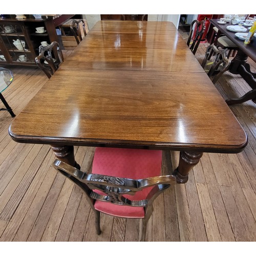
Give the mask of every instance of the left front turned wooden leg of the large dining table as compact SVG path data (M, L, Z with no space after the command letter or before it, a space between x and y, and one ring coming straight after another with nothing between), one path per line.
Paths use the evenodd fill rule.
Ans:
M57 159L80 169L80 165L75 161L74 146L51 145L51 148Z

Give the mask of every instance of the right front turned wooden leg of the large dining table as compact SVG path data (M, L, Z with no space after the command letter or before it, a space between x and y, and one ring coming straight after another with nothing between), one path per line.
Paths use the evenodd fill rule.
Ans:
M180 152L179 166L173 173L176 177L177 183L187 182L189 171L198 164L202 155L202 152Z

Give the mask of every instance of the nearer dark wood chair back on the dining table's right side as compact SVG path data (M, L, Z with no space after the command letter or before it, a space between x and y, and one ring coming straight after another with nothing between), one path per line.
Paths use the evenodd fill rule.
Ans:
M212 83L216 83L221 75L228 70L231 61L227 58L227 49L218 49L214 45L209 45L206 49L206 53L202 62L202 67L205 68L207 60L211 52L215 53L214 62L211 63L211 67L205 70L209 77L214 76Z

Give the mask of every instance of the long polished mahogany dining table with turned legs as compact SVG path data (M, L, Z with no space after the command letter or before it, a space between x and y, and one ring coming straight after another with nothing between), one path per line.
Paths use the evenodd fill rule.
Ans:
M49 144L76 167L75 145L179 151L178 183L188 180L203 152L239 153L247 144L170 22L97 22L9 134L16 142Z

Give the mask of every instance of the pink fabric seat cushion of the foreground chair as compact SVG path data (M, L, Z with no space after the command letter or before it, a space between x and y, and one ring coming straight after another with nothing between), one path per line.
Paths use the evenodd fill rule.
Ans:
M130 148L97 147L92 173L129 179L144 179L161 175L162 151L136 150ZM145 199L153 187L138 191L135 195L125 195L130 200ZM100 195L102 191L94 190ZM96 210L123 218L144 218L144 207L116 205L96 201Z

